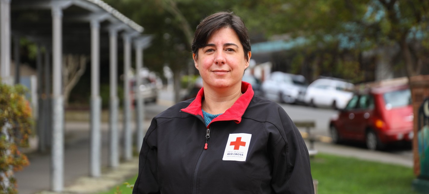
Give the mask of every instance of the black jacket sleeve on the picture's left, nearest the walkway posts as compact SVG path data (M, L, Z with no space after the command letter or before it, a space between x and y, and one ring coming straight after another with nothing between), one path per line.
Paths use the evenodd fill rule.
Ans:
M139 174L134 184L133 194L160 193L157 168L157 124L154 118L143 139L139 154Z

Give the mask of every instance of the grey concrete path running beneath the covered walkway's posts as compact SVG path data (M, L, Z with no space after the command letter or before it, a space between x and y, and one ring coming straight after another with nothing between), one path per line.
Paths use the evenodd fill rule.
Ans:
M145 123L148 125L150 122L146 121ZM108 124L103 123L101 126L103 139L101 154L103 176L100 178L90 179L88 177L89 128L89 123L86 122L66 122L65 124L64 184L66 188L64 191L69 191L70 193L91 193L92 191L108 190L109 188L117 185L118 183L120 184L125 179L132 177L137 173L137 158L134 158L132 161L128 162L121 161L121 166L115 170L107 167ZM34 194L49 190L49 168L51 160L50 154L30 152L27 153L27 156L30 161L30 165L24 167L22 171L15 173L15 177L18 181L19 193Z

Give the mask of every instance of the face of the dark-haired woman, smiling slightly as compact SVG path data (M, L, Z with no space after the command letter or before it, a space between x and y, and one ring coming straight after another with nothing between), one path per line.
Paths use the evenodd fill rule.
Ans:
M248 55L250 59L251 52ZM193 59L205 88L241 85L244 70L249 66L240 39L231 28L213 33L207 44L198 49L198 58L194 54Z

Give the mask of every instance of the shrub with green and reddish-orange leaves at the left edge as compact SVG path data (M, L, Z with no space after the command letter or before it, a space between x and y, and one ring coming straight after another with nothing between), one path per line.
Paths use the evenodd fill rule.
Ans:
M13 171L29 164L27 157L18 150L18 146L28 146L33 124L25 93L23 85L6 85L0 79L0 175L10 182L7 186L5 180L0 180L0 193L17 193Z

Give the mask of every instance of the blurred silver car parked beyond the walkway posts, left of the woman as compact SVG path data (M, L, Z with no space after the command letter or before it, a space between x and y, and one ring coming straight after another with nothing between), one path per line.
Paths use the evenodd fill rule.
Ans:
M139 85L138 90L142 94L143 101L145 103L155 103L158 98L158 88L155 81L151 81L148 78L141 78L142 82L141 85ZM133 99L133 104L136 104L135 100L135 91L136 91L136 80L131 80L131 99Z

